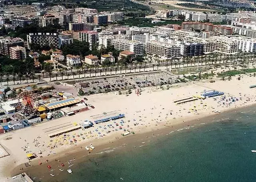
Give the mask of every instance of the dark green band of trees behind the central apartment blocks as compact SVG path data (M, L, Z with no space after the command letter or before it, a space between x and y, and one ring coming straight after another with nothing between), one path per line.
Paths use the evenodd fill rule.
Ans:
M181 25L182 21L175 20L163 20L164 22L151 23L152 18L129 18L124 19L122 22L118 22L120 25L138 26L138 27L153 27L167 24Z

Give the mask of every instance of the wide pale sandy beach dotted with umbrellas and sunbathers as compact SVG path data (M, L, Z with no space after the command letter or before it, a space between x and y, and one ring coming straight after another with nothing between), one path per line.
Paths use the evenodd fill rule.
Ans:
M0 180L5 181L8 177L27 171L32 166L36 166L38 170L47 170L45 165L48 164L51 164L53 168L57 167L59 165L57 163L60 162L55 162L55 160L67 155L70 160L74 157L77 159L79 156L83 156L82 154L90 157L94 153L104 151L104 149L108 150L124 141L129 143L138 140L140 136L148 135L148 133L156 133L166 128L175 130L194 123L202 123L200 118L216 115L213 112L216 110L225 112L254 104L256 101L255 89L251 89L249 86L255 84L255 78L247 75L244 75L241 80L237 78L238 76L234 76L232 80L216 80L214 83L203 80L173 84L169 89L164 86L163 89L159 86L158 88L143 88L138 96L135 90L129 96L117 95L115 92L88 96L88 102L93 104L95 109L0 135L0 144L10 154L0 158L2 164ZM179 105L173 102L179 98L200 95L200 92L205 90L218 90L224 92L224 96L199 99ZM232 99L236 101L232 102ZM48 133L45 132L48 128L65 123L73 125L80 121L91 120L93 115L104 112L119 112L125 114L125 118L94 124L94 127L88 129L72 131L67 133L66 137L61 135L49 138ZM121 133L124 132L124 129L134 131L135 134L123 137ZM76 142L70 142L74 138ZM96 147L91 154L84 149L90 144ZM26 157L28 153L36 153L38 157L28 161ZM31 166L25 167L24 163L26 162L30 162ZM42 162L42 165L39 165L39 162ZM23 168L23 170L19 170L19 168Z

